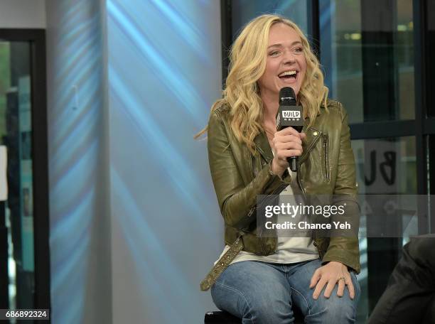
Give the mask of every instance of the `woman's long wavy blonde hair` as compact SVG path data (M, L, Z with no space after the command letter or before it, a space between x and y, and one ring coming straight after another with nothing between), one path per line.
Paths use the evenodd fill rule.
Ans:
M326 106L328 87L323 84L323 73L316 55L311 51L301 29L282 16L266 14L254 18L241 31L230 50L230 72L222 98L212 106L210 114L225 104L230 111L230 125L237 140L245 143L254 152L254 138L263 131L263 102L257 81L266 70L267 45L270 28L276 23L285 23L301 37L306 58L306 75L299 90L297 101L304 107L304 117L313 124L321 105ZM195 135L204 134L207 127Z

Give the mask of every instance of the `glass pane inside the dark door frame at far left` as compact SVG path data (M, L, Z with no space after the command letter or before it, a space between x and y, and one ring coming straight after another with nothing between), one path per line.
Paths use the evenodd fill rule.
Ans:
M0 41L0 144L7 148L9 308L33 308L31 44ZM1 279L0 279L1 280Z

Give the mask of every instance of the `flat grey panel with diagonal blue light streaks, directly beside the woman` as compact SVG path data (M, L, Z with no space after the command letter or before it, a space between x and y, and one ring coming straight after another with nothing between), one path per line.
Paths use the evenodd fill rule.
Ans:
M200 323L222 249L205 126L219 1L107 1L114 323Z

